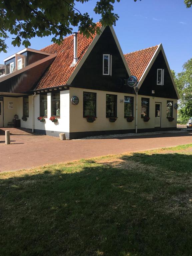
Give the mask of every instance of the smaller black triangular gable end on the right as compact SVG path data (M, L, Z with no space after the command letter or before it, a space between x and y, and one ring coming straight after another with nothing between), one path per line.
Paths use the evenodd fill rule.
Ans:
M157 85L157 69L164 69L164 85ZM152 94L152 90L155 94ZM161 98L178 99L162 51L159 52L150 71L143 81L138 94Z

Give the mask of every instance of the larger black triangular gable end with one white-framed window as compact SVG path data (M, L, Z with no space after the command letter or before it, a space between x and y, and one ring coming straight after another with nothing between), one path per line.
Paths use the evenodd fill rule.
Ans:
M103 54L112 55L112 76L103 75ZM135 94L133 88L124 85L124 80L128 77L112 32L109 27L106 27L73 79L71 86Z

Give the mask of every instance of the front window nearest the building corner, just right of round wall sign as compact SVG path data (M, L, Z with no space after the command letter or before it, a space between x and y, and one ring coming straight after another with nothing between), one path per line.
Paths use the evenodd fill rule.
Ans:
M96 117L96 93L83 92L83 117Z

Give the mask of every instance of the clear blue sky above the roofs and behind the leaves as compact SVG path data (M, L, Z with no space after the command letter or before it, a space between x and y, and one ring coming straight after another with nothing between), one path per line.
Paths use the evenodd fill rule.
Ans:
M97 22L101 17L93 11L96 2L77 3L75 7ZM192 7L186 8L184 0L120 0L114 4L114 13L120 17L114 30L124 54L162 43L169 66L176 73L192 58ZM8 53L0 53L1 64L24 48L11 45L11 37L7 40ZM35 37L29 48L39 50L51 44L51 38Z

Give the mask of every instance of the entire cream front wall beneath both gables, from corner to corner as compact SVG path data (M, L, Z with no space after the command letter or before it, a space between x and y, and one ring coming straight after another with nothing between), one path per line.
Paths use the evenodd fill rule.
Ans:
M83 118L83 92L95 92L97 93L97 118L93 123L88 123L86 118ZM106 94L117 95L117 121L114 123L109 122L109 118L106 118ZM120 103L120 99L124 100L124 96L134 97L134 117L135 117L135 104L136 95L126 93L116 93L98 90L89 90L81 88L70 88L70 99L73 96L79 98L79 104L73 105L70 102L70 132L83 132L83 131L105 131L105 130L125 130L135 129L135 120L128 123L124 118L124 103ZM150 98L149 103L149 122L144 122L141 118L141 98ZM150 129L155 125L155 102L161 102L161 128L176 127L177 123L177 110L173 108L173 117L175 120L169 122L167 119L167 100L172 100L173 105L177 103L175 99L147 97L138 95L138 129Z

